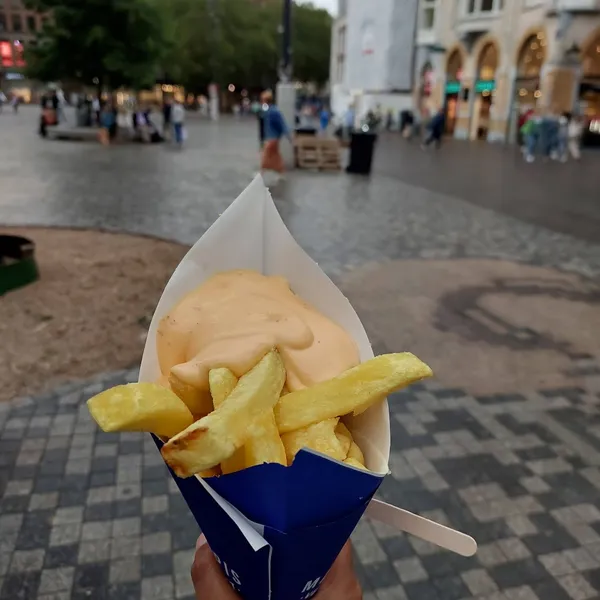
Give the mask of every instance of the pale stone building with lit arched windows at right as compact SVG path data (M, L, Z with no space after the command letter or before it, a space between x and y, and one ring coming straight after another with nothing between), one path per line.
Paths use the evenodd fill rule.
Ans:
M414 90L460 139L515 141L532 109L600 119L600 0L420 0Z

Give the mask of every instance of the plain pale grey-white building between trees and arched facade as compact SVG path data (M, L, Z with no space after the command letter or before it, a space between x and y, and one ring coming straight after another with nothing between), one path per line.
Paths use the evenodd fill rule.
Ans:
M361 113L412 106L418 0L340 0L333 24L332 110L350 104Z

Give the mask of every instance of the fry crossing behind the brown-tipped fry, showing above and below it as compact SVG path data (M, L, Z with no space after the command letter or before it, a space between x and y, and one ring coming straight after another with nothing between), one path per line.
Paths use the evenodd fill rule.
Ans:
M217 408L235 388L237 377L229 369L212 369L208 374L208 381ZM224 475L263 463L287 464L272 410L268 411L257 427L260 432L249 438L243 448L236 450L230 458L221 463Z

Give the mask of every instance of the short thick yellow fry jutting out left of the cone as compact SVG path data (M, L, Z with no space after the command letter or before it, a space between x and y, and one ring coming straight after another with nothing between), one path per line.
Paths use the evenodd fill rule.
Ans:
M118 385L90 398L87 406L103 431L147 431L169 438L194 422L187 406L157 383Z

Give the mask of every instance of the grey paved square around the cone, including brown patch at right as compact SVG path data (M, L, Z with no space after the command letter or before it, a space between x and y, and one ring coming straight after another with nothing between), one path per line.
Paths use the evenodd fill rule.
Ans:
M191 244L257 167L252 121L195 119L178 152L40 141L36 114L0 115L0 225ZM363 519L365 599L599 598L600 154L524 165L500 146L422 153L395 135L377 152L371 178L294 172L272 192L375 351L412 350L436 373L390 398L380 497L480 550ZM83 404L135 377L0 405L0 600L193 598L198 530L151 440L97 431Z

